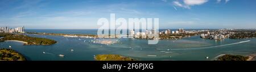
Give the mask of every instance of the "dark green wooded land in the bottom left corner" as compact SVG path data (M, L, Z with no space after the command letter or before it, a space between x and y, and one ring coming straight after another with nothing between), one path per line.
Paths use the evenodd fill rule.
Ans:
M0 61L26 61L26 58L13 49L0 49Z

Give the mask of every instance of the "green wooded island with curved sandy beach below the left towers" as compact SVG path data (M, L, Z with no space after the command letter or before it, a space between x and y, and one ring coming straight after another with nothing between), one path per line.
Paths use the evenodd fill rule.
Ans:
M39 37L30 37L26 35L20 34L12 34L12 33L0 33L0 42L3 41L19 41L24 43L24 45L52 45L57 43L55 40L44 39Z

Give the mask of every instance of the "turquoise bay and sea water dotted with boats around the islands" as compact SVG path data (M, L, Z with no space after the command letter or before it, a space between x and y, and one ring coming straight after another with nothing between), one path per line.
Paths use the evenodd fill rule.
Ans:
M96 34L97 29L29 29L27 32L47 33L86 33ZM121 54L137 60L214 60L220 54L247 54L256 53L256 39L225 39L222 41L205 40L199 36L192 36L180 40L160 40L158 44L148 45L147 40L137 39L111 39L118 43L111 45L93 43L95 40L109 39L86 39L63 36L42 36L56 40L54 45L23 45L18 42L2 42L0 48L9 48L22 53L28 60L32 61L91 61L96 54ZM240 43L241 41L247 41ZM73 49L73 51L71 51ZM46 52L46 53L43 53ZM64 54L64 57L59 57ZM150 57L154 55L156 57ZM206 59L205 57L209 57Z

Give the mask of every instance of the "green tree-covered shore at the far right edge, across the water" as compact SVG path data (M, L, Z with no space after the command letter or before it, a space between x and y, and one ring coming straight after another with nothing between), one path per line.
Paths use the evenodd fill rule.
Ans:
M256 37L255 32L237 32L230 36L230 39L248 39L251 37Z

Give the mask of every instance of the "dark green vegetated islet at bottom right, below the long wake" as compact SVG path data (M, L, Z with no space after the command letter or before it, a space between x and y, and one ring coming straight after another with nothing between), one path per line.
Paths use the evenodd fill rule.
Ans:
M217 61L247 61L248 59L249 57L226 54L224 56L218 57Z

